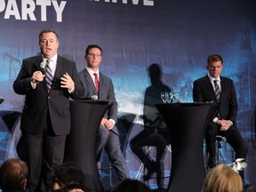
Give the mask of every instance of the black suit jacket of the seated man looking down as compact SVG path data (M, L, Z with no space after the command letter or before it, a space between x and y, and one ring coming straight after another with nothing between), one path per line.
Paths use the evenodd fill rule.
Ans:
M220 86L220 107L219 111L216 111L212 116L212 119L217 116L217 113L220 113L222 119L230 120L233 124L236 124L238 106L233 81L227 77L220 76ZM208 76L201 77L194 82L193 100L195 102L218 102Z

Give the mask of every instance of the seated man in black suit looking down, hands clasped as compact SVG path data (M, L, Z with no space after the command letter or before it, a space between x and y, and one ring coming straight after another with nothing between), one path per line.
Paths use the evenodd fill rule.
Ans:
M194 82L193 99L195 102L213 101L219 108L212 116L205 134L206 148L209 155L208 167L216 166L216 135L227 138L234 148L237 158L246 158L247 146L236 126L238 105L233 81L220 76L223 60L220 55L212 54L207 59L208 75ZM216 90L217 88L217 90ZM216 91L215 91L216 90Z

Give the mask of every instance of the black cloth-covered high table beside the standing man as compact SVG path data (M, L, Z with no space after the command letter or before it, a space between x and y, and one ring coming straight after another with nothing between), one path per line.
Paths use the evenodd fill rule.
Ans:
M84 172L87 188L104 191L96 162L96 137L110 100L71 100L71 130L67 137L64 162L76 163Z

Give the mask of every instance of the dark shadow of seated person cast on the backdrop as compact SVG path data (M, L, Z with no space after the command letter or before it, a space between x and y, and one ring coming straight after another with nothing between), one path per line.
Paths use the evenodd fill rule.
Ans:
M163 103L161 92L172 92L171 88L162 82L162 68L154 63L148 68L148 76L151 85L146 89L144 98L143 116L144 130L135 136L130 143L132 152L140 158L140 161L147 168L144 180L149 180L156 172L156 182L161 188L161 167L160 161L164 155L164 149L170 140L169 132L164 124L163 117L159 114L155 105ZM147 155L145 146L156 146L156 161Z

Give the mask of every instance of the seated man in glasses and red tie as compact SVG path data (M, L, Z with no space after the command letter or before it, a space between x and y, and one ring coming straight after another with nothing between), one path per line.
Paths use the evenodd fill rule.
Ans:
M87 62L87 67L79 73L84 86L84 97L87 98L97 95L100 100L113 101L101 120L97 135L96 159L100 161L103 149L105 148L118 179L124 180L129 175L123 153L120 149L119 132L116 127L117 102L112 80L99 71L102 60L101 47L97 44L90 44L86 48L84 58ZM97 78L95 79L96 76ZM98 87L98 91L96 87Z

